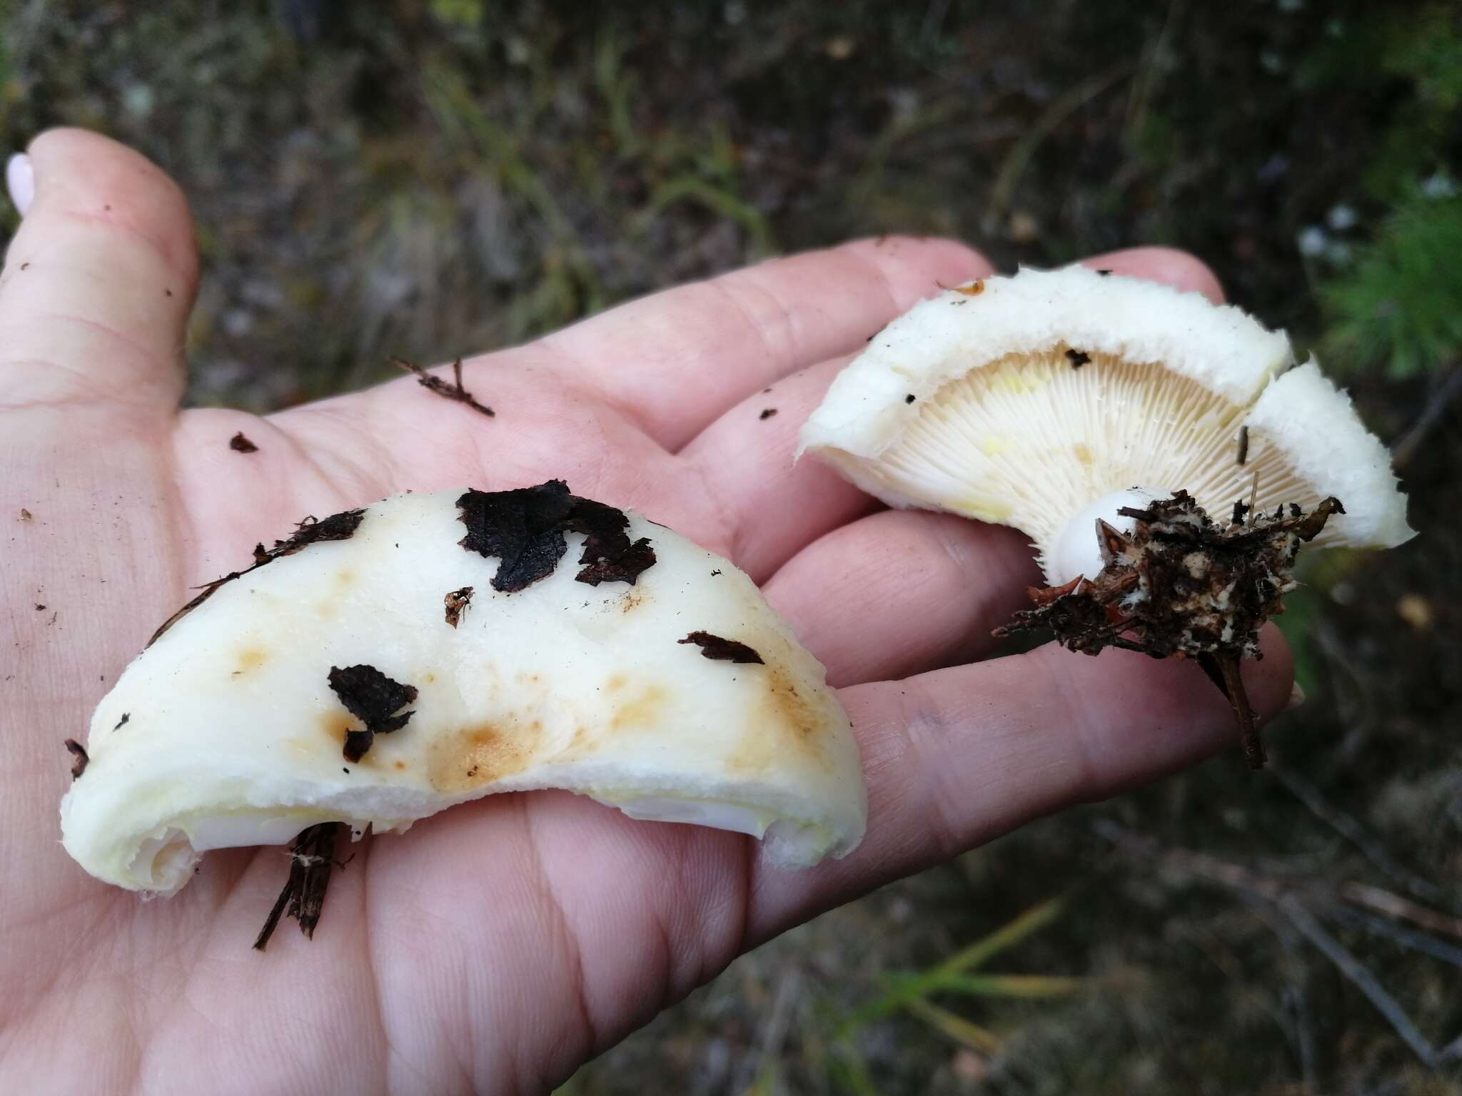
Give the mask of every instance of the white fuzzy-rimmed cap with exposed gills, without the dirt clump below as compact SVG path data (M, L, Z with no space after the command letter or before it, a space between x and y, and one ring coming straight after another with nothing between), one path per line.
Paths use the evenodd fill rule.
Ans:
M801 450L890 506L1025 530L1053 583L1082 573L1057 544L1095 545L1094 519L1114 520L1121 492L1187 490L1225 519L1256 473L1262 510L1341 498L1319 544L1401 544L1412 530L1386 449L1314 365L1281 376L1292 364L1282 332L1200 294L1025 269L885 327L833 380Z

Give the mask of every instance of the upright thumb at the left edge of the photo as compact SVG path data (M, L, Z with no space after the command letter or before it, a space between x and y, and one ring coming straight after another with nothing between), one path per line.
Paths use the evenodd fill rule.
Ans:
M42 133L13 161L12 183L25 164L34 197L0 276L0 408L171 409L197 279L183 193L140 153L85 130Z

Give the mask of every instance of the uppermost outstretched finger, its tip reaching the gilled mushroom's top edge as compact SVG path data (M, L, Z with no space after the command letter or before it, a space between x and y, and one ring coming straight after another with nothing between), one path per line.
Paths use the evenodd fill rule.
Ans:
M857 349L937 282L988 270L949 240L860 240L633 301L541 348L675 450L778 377Z

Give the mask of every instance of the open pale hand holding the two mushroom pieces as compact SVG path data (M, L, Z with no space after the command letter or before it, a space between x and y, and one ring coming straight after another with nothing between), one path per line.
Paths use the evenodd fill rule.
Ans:
M29 155L35 197L0 279L0 1090L542 1092L788 926L1234 744L1192 665L977 661L1038 577L1023 538L879 511L792 466L797 427L868 335L990 272L961 244L779 259L469 358L496 419L409 377L265 418L180 412L197 281L181 193L91 133ZM1091 262L1219 294L1174 251ZM240 430L257 453L230 449ZM354 846L314 940L285 922L263 954L278 849L209 853L146 903L66 856L61 741L189 586L304 514L553 476L763 585L857 729L857 852L784 872L740 834L491 796ZM1269 716L1291 663L1272 631L1265 650L1244 677Z

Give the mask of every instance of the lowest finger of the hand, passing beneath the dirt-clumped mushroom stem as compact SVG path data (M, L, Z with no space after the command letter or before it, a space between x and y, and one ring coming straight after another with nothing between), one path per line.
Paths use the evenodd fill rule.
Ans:
M1289 650L1273 625L1246 661L1260 719L1284 710ZM756 862L747 945L1031 818L1102 799L1219 750L1228 701L1192 662L1047 644L841 694L868 779L868 833L842 861L788 874Z

